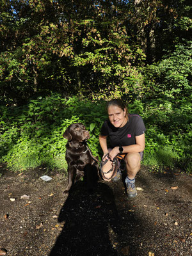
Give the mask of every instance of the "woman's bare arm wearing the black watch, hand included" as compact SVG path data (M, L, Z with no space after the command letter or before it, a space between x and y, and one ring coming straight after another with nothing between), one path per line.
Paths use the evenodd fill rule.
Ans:
M142 152L145 148L145 133L141 134L140 136L136 136L136 144L130 145L130 146L124 146L124 151L123 153L131 153L131 152ZM111 150L109 156L111 160L119 154L119 147L113 148Z

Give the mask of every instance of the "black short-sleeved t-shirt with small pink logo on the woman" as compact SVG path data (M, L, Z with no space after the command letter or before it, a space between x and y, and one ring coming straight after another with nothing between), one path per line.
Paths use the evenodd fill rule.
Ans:
M136 144L135 137L145 133L145 125L140 115L129 114L129 120L123 127L116 128L106 120L100 135L108 136L111 148Z

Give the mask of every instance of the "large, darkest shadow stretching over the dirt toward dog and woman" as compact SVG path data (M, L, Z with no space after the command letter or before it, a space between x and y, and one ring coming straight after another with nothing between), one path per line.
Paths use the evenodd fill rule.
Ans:
M61 208L58 222L63 230L57 237L49 256L115 256L112 240L118 242L120 223L113 191L99 182L93 193L88 193L84 182L77 182Z

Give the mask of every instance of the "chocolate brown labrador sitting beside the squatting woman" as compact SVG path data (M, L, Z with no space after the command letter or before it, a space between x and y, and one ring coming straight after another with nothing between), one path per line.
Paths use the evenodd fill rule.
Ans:
M90 138L89 132L83 124L77 123L68 126L63 137L68 140L65 156L68 164L68 185L63 193L68 193L72 184L83 176L88 190L92 191L93 184L98 179L99 164L86 143Z

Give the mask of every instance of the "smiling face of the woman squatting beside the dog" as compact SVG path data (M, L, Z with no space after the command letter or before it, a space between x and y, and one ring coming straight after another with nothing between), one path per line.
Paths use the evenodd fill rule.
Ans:
M121 109L116 105L111 105L108 108L109 121L116 128L123 127L127 123L126 109Z

